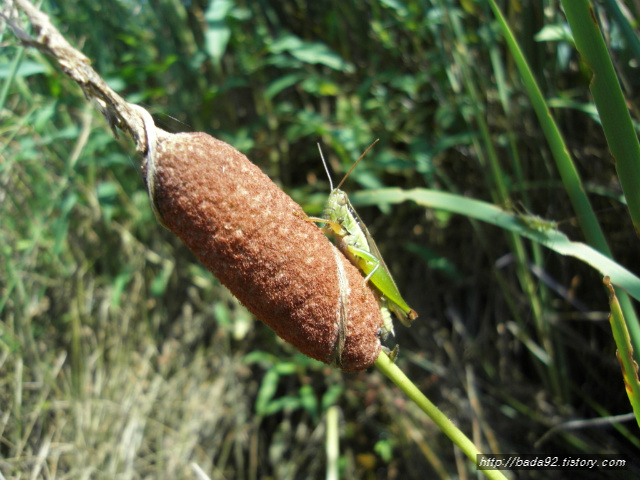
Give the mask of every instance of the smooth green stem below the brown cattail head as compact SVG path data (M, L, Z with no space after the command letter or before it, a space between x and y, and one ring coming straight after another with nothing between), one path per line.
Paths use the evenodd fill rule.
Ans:
M404 374L398 366L393 363L389 357L381 352L376 360L376 367L384 373L407 397L409 397L431 420L440 428L440 430L455 443L464 454L469 457L477 465L478 455L482 452L474 445L474 443L456 427L447 416L442 413L424 394L418 390L414 383ZM490 479L506 480L506 477L499 470L484 470L483 473Z

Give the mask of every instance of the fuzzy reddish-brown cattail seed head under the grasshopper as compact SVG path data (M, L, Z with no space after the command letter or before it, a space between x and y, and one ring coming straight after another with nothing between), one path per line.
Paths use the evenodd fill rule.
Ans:
M204 133L163 133L150 161L149 191L162 222L251 313L305 355L345 372L375 362L382 317L361 273L246 156ZM348 322L339 355L341 309Z

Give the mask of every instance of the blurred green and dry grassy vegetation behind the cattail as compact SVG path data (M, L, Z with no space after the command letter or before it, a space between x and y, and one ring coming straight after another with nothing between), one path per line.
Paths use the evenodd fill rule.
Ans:
M627 3L627 18L637 18ZM616 259L637 271L638 239L559 5L501 7ZM460 193L557 220L583 240L482 1L61 0L42 8L160 128L231 143L309 214L321 212L329 191L316 143L335 181L379 138L347 192ZM598 14L637 119L640 59L609 10ZM114 140L49 59L23 51L8 30L0 35L5 477L195 478L195 462L211 478L323 478L330 405L342 412L343 478L473 472L378 372L345 375L308 360L251 318L155 221L131 141ZM507 201L498 201L490 173L494 153ZM565 421L631 411L597 272L526 244L532 296L495 227L409 203L359 211L420 314L410 330L396 326L398 364L481 450L637 457L634 422L583 425L540 442Z

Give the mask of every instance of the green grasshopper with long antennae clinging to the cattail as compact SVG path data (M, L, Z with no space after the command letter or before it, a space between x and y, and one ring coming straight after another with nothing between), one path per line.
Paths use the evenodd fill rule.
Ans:
M394 334L389 310L406 326L411 326L411 322L418 318L418 314L407 305L407 302L400 295L391 272L389 272L389 268L384 263L382 255L380 255L376 242L353 208L353 205L351 205L347 194L340 190L349 174L377 142L378 140L373 142L356 160L336 188L333 188L327 162L324 159L324 155L322 155L320 145L318 145L322 163L329 177L331 193L325 204L322 218L309 217L309 220L324 224L322 227L323 232L336 237L338 248L365 275L364 285L366 286L367 282L371 282L375 287L374 291L377 294L384 320L382 337L385 339L389 333Z

